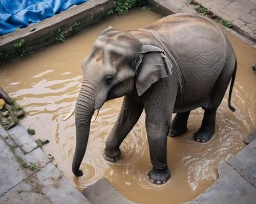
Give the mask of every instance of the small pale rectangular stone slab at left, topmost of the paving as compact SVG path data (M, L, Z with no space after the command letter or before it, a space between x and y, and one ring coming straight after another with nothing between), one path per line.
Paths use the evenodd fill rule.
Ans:
M8 130L7 133L24 152L28 153L37 148L37 144L35 143L33 137L23 126L16 125Z

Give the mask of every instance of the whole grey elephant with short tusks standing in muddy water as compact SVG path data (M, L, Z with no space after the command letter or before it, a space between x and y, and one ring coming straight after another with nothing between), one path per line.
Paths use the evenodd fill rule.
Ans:
M204 109L197 142L215 133L216 110L229 88L228 106L236 78L237 57L229 38L213 20L189 13L168 15L137 30L106 28L82 62L82 83L75 107L76 146L72 171L79 169L86 152L92 116L109 100L123 97L118 118L105 142L103 156L118 160L120 144L145 110L145 127L152 170L147 179L166 183L167 137L187 131L191 110ZM172 114L176 113L172 121Z

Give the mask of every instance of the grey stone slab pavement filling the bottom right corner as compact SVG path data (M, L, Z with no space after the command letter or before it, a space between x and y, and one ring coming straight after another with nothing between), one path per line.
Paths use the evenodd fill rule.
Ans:
M254 204L256 201L256 139L230 160L224 162L218 168L218 172L218 180L196 199L186 204Z

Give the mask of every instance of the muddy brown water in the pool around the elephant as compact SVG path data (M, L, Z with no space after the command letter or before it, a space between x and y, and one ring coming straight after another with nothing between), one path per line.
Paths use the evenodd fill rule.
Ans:
M0 86L26 110L21 121L36 130L37 139L48 139L43 146L52 154L58 168L81 190L106 177L127 198L139 203L182 203L206 190L218 178L217 167L241 150L242 140L256 126L256 76L251 66L256 63L256 50L238 37L228 33L238 58L238 72L232 104L228 109L227 93L217 114L217 130L210 142L195 142L193 133L200 127L203 111L193 110L188 120L188 132L179 138L168 138L167 158L172 173L162 186L149 183L150 155L145 131L145 114L121 145L121 158L116 164L104 160L105 140L118 116L122 98L105 103L97 120L92 123L86 155L77 179L71 164L75 148L75 119L61 118L73 107L78 96L82 70L81 62L103 29L113 26L119 31L137 29L158 20L151 11L133 10L113 17L88 31L77 34L65 43L55 44L32 56L12 62L0 69ZM174 117L174 116L173 116Z

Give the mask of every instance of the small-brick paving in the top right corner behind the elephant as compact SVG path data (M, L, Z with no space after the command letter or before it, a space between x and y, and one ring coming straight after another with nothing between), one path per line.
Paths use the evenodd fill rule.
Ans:
M256 42L256 0L195 0L195 2L222 19L230 21L235 27L234 30Z

